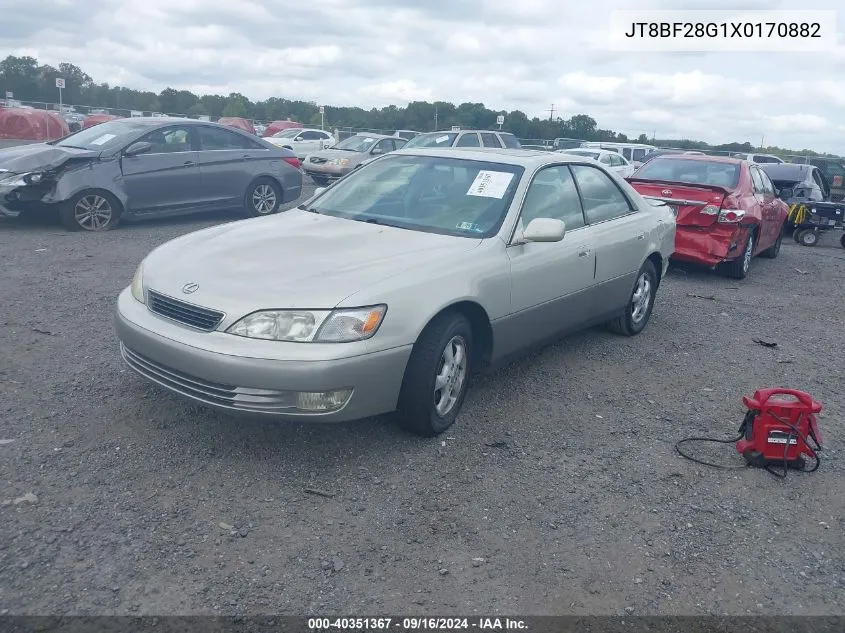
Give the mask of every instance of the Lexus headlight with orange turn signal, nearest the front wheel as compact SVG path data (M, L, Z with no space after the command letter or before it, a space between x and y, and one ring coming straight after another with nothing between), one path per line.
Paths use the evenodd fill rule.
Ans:
M376 333L386 305L340 310L262 310L232 325L229 334L294 343L351 343Z

